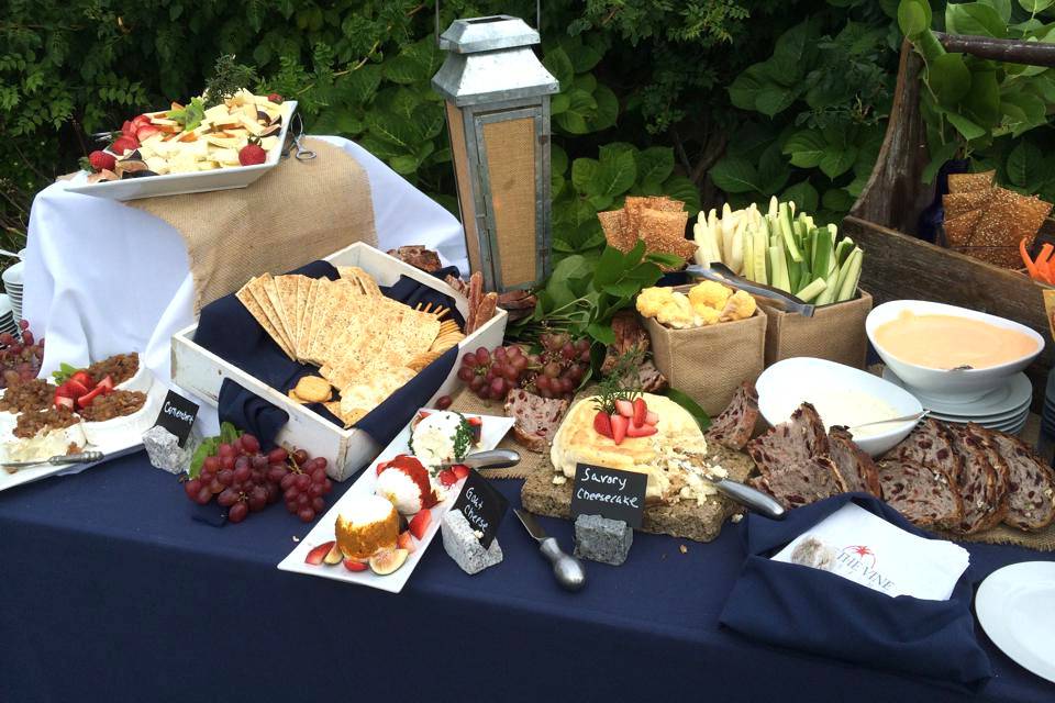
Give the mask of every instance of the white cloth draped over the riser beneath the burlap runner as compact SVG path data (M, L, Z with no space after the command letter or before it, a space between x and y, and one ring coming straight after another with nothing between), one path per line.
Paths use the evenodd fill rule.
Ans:
M456 217L358 145L322 138L366 170L382 250L423 244L445 264L468 271ZM46 338L42 371L135 350L168 382L171 336L193 322L193 280L182 238L136 208L70 193L66 186L53 183L37 193L30 213L23 316Z

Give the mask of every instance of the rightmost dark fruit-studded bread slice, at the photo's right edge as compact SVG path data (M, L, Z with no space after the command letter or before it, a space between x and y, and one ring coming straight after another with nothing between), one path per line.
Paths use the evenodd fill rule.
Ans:
M1003 523L1019 529L1043 529L1055 521L1055 472L1018 437L991 432L1008 465Z

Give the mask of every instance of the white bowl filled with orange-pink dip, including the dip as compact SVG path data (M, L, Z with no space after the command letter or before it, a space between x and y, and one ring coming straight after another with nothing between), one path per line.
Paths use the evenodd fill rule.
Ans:
M955 403L996 390L1044 350L1044 337L1025 325L924 300L873 309L865 332L912 393ZM952 370L962 365L971 368Z

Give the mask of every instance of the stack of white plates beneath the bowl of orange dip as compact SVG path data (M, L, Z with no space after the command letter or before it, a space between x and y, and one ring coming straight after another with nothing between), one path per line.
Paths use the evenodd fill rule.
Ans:
M1017 435L1025 427L1025 421L1030 416L1033 384L1022 372L1009 377L1006 383L981 398L967 402L957 402L955 398L937 398L923 394L906 384L889 368L884 369L882 378L897 383L915 395L923 408L931 411L930 416L942 422L959 424L973 422L989 429L999 429Z

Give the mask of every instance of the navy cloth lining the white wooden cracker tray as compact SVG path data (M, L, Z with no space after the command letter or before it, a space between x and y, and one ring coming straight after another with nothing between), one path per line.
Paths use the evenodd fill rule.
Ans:
M290 274L331 280L340 278L337 269L326 261L312 261ZM433 276L442 280L448 274L457 276L457 268L447 267L435 271ZM410 306L418 303L432 303L433 306L449 308L451 316L460 326L465 326L465 321L449 295L410 277L401 276L391 287L381 287L381 292ZM290 360L233 293L202 308L195 342L284 394L296 386L302 376L319 372L313 366ZM359 420L355 427L365 431L378 444L387 445L407 426L414 411L424 405L436 392L454 368L457 358L458 348L455 346ZM285 415L277 427L274 426L277 422L276 416L262 404ZM333 424L343 426L342 422L321 403L313 403L308 408ZM220 391L220 419L227 420L240 429L257 435L262 445L269 446L265 444L267 435L262 433L270 433L267 439L274 440L278 429L288 420L288 415L255 393L225 379Z

